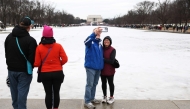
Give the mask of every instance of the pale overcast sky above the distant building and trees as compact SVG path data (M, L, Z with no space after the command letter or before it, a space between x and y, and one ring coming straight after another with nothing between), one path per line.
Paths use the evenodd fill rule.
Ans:
M88 15L101 15L105 19L122 16L142 1L145 0L51 0L50 3L57 10L64 10L81 19L87 19ZM158 3L158 0L149 1Z

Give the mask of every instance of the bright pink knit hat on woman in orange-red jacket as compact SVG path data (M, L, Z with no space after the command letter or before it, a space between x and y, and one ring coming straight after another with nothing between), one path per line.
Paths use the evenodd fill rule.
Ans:
M44 25L44 30L42 33L43 37L53 37L53 29L47 25Z

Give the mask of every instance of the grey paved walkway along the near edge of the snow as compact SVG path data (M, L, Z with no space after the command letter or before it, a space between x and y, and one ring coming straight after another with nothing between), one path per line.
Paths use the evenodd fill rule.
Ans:
M46 109L44 99L28 99L27 109ZM13 109L10 99L0 99L0 109ZM59 109L86 109L82 99L61 99ZM190 100L116 100L96 109L190 109Z

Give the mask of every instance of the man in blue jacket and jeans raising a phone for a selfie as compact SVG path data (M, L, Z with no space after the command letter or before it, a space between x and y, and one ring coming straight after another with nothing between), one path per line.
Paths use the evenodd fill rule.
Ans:
M101 45L102 31L100 28L95 28L93 33L84 41L85 44L85 69L87 75L87 83L84 96L84 106L88 109L95 108L92 103L100 103L95 99L96 86L100 77L101 70L104 66L103 48Z

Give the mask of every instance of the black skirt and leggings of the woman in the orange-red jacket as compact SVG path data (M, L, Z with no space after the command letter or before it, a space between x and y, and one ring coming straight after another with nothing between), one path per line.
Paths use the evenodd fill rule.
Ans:
M41 73L41 77L42 77L42 84L44 86L44 90L46 93L45 96L46 108L51 109L52 102L54 108L58 108L60 102L59 91L64 79L63 71ZM52 88L53 88L53 93L52 93ZM54 98L52 98L52 96Z

